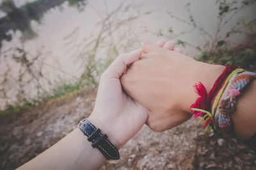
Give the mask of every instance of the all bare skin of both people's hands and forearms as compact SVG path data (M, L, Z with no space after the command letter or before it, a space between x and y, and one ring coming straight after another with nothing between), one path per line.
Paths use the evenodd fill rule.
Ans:
M172 41L143 43L142 48L143 54L136 50L118 56L102 74L95 108L88 118L117 148L124 146L146 121L152 129L163 131L188 120L189 107L197 97L190 85L201 81L209 90L224 69L182 55ZM121 76L123 88L134 99L123 91ZM237 100L232 116L234 130L243 139L256 132L255 96L253 81ZM19 169L99 169L105 162L102 153L75 129Z

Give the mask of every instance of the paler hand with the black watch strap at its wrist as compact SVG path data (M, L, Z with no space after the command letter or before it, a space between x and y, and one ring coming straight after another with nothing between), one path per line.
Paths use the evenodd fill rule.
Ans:
M119 55L112 62L100 78L95 108L89 117L117 148L140 131L148 118L147 110L125 94L120 83L127 66L140 57L141 50L136 50Z

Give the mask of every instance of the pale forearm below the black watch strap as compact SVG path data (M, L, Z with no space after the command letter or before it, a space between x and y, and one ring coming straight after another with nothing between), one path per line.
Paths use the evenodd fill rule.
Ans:
M75 129L19 169L99 169L105 162L102 153Z

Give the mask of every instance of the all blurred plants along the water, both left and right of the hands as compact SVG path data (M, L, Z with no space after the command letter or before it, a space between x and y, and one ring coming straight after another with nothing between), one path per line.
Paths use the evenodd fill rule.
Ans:
M12 9L16 9L15 4L12 3L12 1L8 0L3 2L4 3L1 5L2 7L10 7L0 7L0 9L7 9L6 13L11 13L10 11L12 11ZM53 1L51 2L53 3ZM57 6L56 3L61 2L63 2L63 0L55 1L51 5ZM214 35L209 34L204 27L201 27L200 24L196 22L196 18L190 9L191 4L188 3L186 5L186 9L189 13L188 20L179 18L170 12L168 12L168 14L172 18L188 24L192 29L189 31L175 33L175 30L173 30L172 27L169 27L169 29L167 29L168 35L164 34L163 31L156 32L156 35L177 39L182 34L188 34L191 30L197 30L204 39L202 46L194 46L193 43L182 41L182 39L178 39L177 44L184 47L191 46L198 50L198 60L212 64L239 65L245 69L256 71L256 18L239 21L232 29L225 32L225 27L229 24L230 20L232 20L237 13L248 8L248 6L255 2L256 1L252 0L243 0L241 2L226 0L216 1L219 15L218 22L216 24L216 33ZM17 8L16 11L25 10L29 16L33 16L33 19L40 22L44 12L39 10L40 12L38 13L38 10L35 10L35 7L41 6L42 3L45 2L38 0L32 3L27 3L20 9ZM68 4L70 6L76 6L79 11L82 11L83 6L86 5L86 1L68 0ZM44 53L43 50L38 52L38 55L31 55L31 53L27 52L22 48L22 46L20 46L13 47L2 52L0 62L5 62L6 70L0 74L0 99L8 98L8 92L13 89L17 89L17 101L11 104L6 103L6 109L0 111L0 118L8 115L8 117L10 116L10 120L12 120L15 116L18 116L22 112L29 110L35 105L44 103L45 101L66 96L67 94L77 92L84 87L97 87L99 76L102 71L109 66L120 51L125 51L128 48L127 46L131 46L131 43L129 43L130 41L132 43L136 43L136 41L138 41L138 39L131 39L131 34L133 32L130 27L127 27L127 25L129 25L131 21L139 18L141 15L148 15L150 12L141 14L138 12L137 8L138 6L134 6L132 4L120 4L120 6L113 11L107 10L104 15L100 15L99 11L96 11L99 14L99 17L102 18L99 22L100 30L97 31L96 34L92 34L90 38L83 38L83 40L81 40L79 38L79 29L74 29L74 31L65 37L64 41L66 42L66 47L68 49L72 49L70 50L72 51L72 56L76 57L76 62L81 63L81 75L79 77L66 73L60 67L54 67L45 63L45 56L47 53ZM44 10L45 9L46 8L44 8ZM134 10L134 14L127 16L122 20L116 20L116 18L123 15L127 10ZM0 18L0 24L1 21L3 21L1 19L3 18ZM27 25L29 24L30 19L28 20ZM115 41L113 41L113 33L119 30L122 30L124 34L121 34L120 39L118 39L118 43L115 43ZM236 34L243 34L243 36L246 37L246 40L239 43L237 46L230 46L230 39ZM170 37L170 35L172 36ZM136 36L137 35L134 37ZM124 39L126 40L124 41ZM106 47L107 57L105 59L97 59L99 48L102 46ZM11 75L12 67L10 65L10 60L20 66L17 78L13 78ZM44 71L42 71L44 66L52 67L52 69L56 69L62 75L69 76L71 78L69 81L58 80L55 83L52 83L47 75L44 74ZM10 82L12 81L15 81L17 84L10 85ZM36 96L34 97L29 96L28 89L30 85L35 85Z

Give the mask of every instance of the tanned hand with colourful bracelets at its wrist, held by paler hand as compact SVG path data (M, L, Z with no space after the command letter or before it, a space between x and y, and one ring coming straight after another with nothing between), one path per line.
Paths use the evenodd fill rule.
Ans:
M198 97L193 85L201 81L211 89L224 67L198 62L148 42L141 48L141 60L122 76L122 86L148 109L147 125L151 129L171 129L191 117L189 108Z

